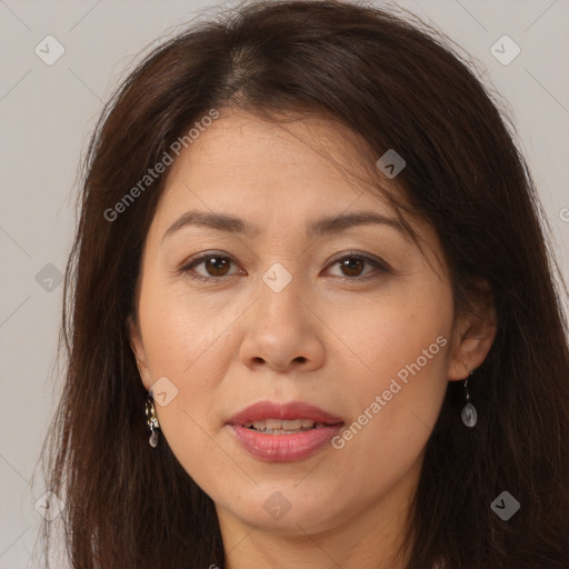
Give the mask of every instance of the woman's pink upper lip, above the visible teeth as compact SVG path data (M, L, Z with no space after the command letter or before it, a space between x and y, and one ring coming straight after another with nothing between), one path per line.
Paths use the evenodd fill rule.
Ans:
M303 401L290 401L287 403L259 401L236 413L229 419L228 423L242 426L247 422L262 421L263 419L311 419L315 422L325 425L343 422L339 417L335 417L323 409Z

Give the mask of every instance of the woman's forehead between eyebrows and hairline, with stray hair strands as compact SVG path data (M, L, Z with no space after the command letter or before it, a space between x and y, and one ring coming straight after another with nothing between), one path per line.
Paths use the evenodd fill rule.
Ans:
M370 170L368 154L356 133L322 118L273 122L223 112L171 166L157 217L190 206L247 212L267 222L356 206L393 213L377 189L381 178ZM385 181L383 187L398 193Z

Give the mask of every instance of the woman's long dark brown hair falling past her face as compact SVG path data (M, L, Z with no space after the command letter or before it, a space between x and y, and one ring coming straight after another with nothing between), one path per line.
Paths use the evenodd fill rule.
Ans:
M472 309L477 283L489 290L497 335L469 382L480 420L462 426L463 386L449 381L412 501L407 569L567 569L569 350L557 264L511 119L471 67L410 14L278 0L193 22L118 88L84 157L64 280L66 383L44 448L73 568L224 567L213 501L168 445L148 446L130 347L166 176L120 220L106 211L197 120L233 108L274 121L320 114L376 159L396 149L403 201L440 239L456 307ZM490 508L505 490L521 505L508 521ZM42 535L49 551L53 528Z

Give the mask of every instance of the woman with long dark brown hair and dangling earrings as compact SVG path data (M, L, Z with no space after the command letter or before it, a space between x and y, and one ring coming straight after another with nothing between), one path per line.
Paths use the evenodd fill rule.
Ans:
M72 567L569 566L536 192L425 30L258 2L108 104L49 465Z

